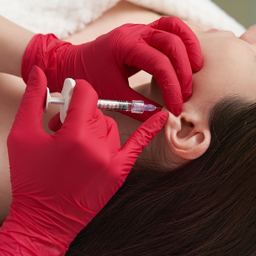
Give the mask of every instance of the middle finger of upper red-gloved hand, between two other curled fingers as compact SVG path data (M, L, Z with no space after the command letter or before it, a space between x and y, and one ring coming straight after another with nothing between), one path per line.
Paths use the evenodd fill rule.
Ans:
M152 32L148 44L169 57L180 83L183 102L189 100L192 93L192 70L180 37L156 30ZM174 88L171 90L175 93Z

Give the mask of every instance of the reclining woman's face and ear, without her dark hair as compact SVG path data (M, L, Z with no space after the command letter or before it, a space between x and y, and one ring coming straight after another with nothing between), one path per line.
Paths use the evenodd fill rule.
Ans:
M241 38L228 31L203 31L195 27L203 56L202 69L193 74L191 98L182 113L169 113L165 124L167 158L176 161L198 158L210 145L209 109L223 96L256 98L256 26ZM151 83L152 99L163 104L155 80ZM165 107L163 110L167 110ZM238 117L239 118L239 117Z

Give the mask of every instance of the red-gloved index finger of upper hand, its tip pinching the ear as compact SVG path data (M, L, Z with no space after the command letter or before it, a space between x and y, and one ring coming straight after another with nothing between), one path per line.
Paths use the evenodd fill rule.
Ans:
M176 116L180 115L183 108L180 83L170 59L165 54L141 41L128 54L126 64L152 74L163 89L163 100L167 109Z

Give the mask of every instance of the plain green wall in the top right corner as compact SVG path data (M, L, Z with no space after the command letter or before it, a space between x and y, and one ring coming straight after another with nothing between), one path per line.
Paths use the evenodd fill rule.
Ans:
M196 0L195 0L196 1ZM256 24L256 0L212 0L245 28Z

